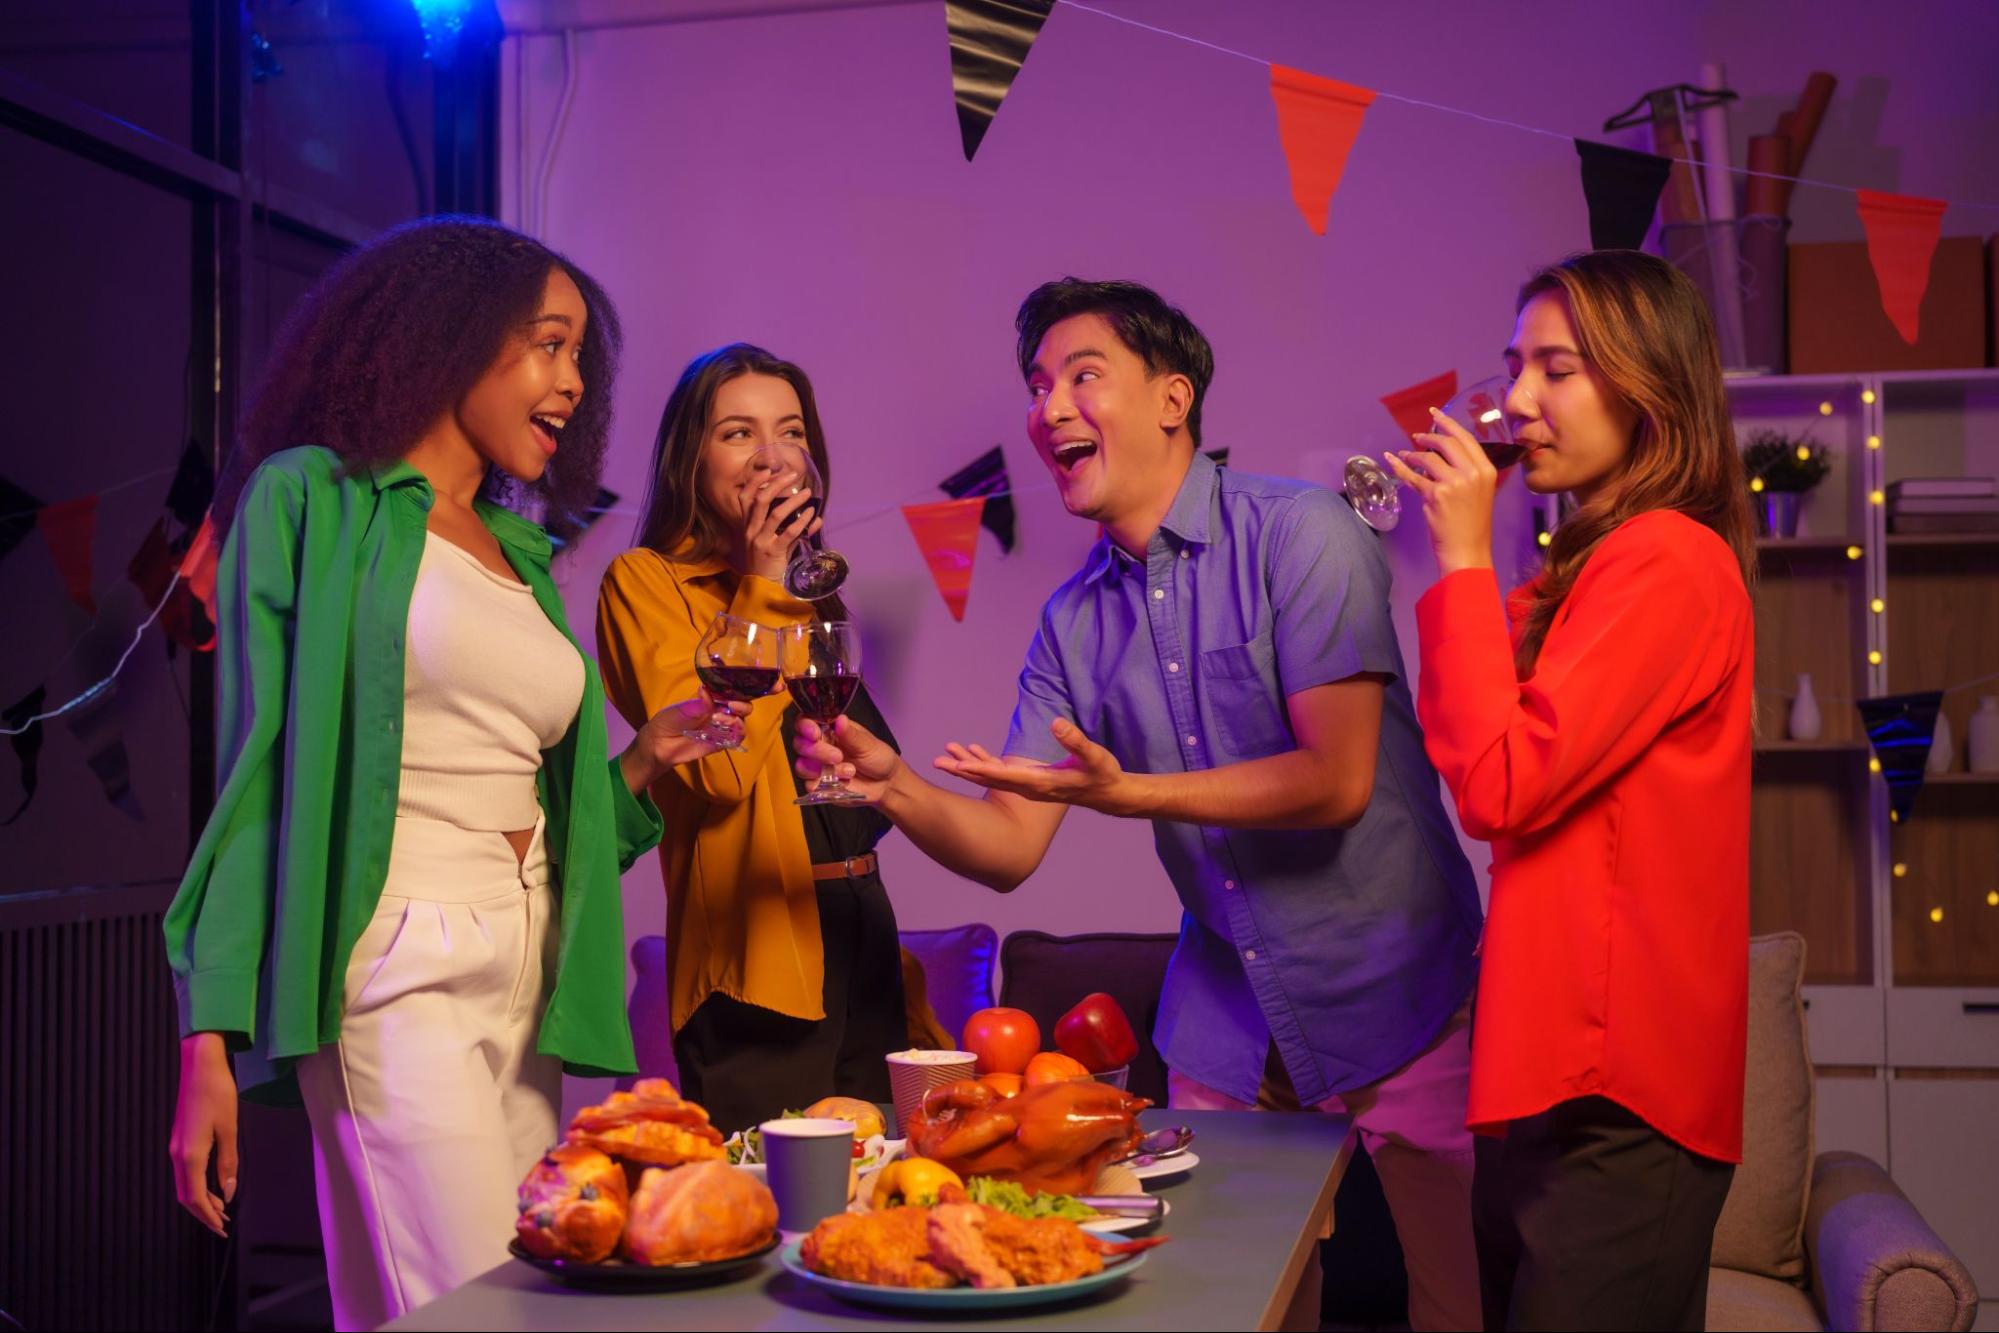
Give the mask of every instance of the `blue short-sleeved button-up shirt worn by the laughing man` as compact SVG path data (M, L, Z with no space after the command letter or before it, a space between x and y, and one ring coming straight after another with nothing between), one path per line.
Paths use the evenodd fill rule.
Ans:
M1255 1101L1271 1043L1305 1105L1393 1073L1463 1005L1479 899L1423 753L1375 534L1333 492L1193 458L1137 564L1107 536L1041 610L1007 753L1069 717L1129 771L1295 749L1287 695L1391 677L1373 797L1347 829L1153 821L1185 907L1153 1041Z

